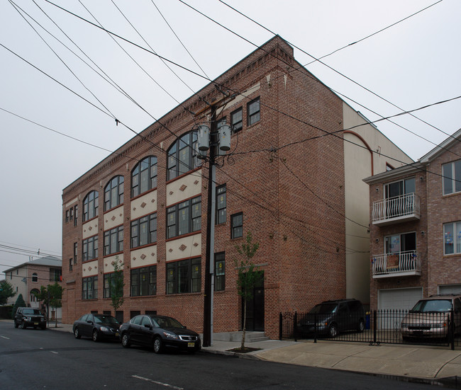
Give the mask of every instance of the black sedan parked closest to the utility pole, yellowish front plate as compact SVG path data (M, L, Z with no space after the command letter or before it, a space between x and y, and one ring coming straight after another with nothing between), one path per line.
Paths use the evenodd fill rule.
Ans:
M135 316L128 323L122 323L119 333L125 348L131 344L145 345L154 348L155 353L163 352L166 348L194 353L201 348L198 333L189 331L179 321L166 316Z

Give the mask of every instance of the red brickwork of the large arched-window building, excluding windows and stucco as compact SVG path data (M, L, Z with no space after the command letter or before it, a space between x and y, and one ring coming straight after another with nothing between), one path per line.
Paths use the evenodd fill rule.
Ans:
M343 129L343 101L304 68L298 71L294 68L299 68L299 63L294 60L292 48L276 37L216 79L224 92L237 94L237 98L219 112L218 119L226 117L229 123L230 113L242 108L243 129L232 135L230 151L233 154L220 159L216 169L218 185L226 183L227 217L225 223L216 226L215 233L215 253L224 252L226 256L226 289L214 294L214 332L240 329L241 304L234 263L240 257L235 246L243 243L248 231L260 243L253 260L265 273L264 323L265 333L271 338L278 337L279 312L305 311L324 299L345 297L344 150L342 133L338 132ZM260 120L248 126L248 103L258 97ZM171 256L167 245L171 242L165 240L166 208L169 197L176 195L167 193L167 185L174 185L174 180L166 180L167 149L196 122L206 121L204 117L193 117L187 110L206 113L204 102L221 98L223 93L214 84L206 86L145 129L142 138L134 137L63 190L65 323L72 323L89 311L114 314L111 299L103 298L103 273L107 266L103 255L103 226L108 223L103 205L106 183L121 175L125 183L124 202L119 212L123 215L126 283L125 302L120 309L123 321L130 319L131 311L157 311L203 331L208 164L188 173L202 176L201 292L167 294L166 266ZM338 133L325 137L326 132ZM130 222L133 220L130 172L138 161L149 155L158 159L157 243L156 260L152 263L157 265L157 294L130 297L130 263L138 261L130 256ZM175 180L182 179L180 176ZM91 225L97 226L97 231L91 234L99 237L97 267L91 270L93 275L98 275L99 298L82 299L82 273L89 275L82 263L82 202L92 190L99 193L99 213ZM75 205L77 224L65 222L66 210ZM239 212L243 213L243 238L230 239L230 216ZM74 243L78 248L77 264L72 261L70 271ZM188 257L189 249L194 248L187 248L184 258Z

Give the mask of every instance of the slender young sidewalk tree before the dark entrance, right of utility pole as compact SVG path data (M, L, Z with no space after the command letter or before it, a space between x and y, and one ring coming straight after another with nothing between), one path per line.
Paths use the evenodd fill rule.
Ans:
M252 263L252 258L255 256L259 243L252 242L251 232L248 231L246 241L241 246L235 246L238 253L244 256L240 261L235 260L235 266L238 270L237 291L240 297L243 298L243 329L242 343L240 350L245 350L245 333L247 326L247 302L253 298L255 287L262 282L263 273L257 270L257 266Z

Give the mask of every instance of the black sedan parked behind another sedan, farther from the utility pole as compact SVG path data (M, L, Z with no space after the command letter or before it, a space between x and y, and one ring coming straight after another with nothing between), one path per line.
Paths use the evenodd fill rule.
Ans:
M118 340L120 323L113 316L105 314L84 314L74 322L72 331L75 338L91 337L93 341L101 339Z

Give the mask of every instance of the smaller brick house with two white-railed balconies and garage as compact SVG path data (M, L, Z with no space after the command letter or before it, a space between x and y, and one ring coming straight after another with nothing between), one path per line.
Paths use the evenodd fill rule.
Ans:
M431 294L461 294L461 130L416 163L370 185L370 303L411 309Z

